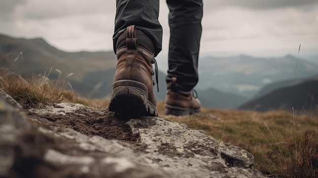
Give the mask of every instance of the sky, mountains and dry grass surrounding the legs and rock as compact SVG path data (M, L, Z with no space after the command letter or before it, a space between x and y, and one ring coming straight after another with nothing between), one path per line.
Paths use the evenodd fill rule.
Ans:
M195 88L202 113L176 117L164 115L169 10L160 0L159 116L249 151L268 177L317 177L318 1L203 2ZM115 7L103 0L0 1L0 87L25 110L52 102L107 108L117 62Z

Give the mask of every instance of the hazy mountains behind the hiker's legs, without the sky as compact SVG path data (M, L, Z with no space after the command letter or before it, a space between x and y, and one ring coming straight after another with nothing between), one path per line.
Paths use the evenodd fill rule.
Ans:
M22 53L20 53L22 52ZM42 74L71 83L80 95L103 98L112 92L116 57L108 52L63 52L43 39L0 35L1 67L30 78ZM197 92L206 108L312 110L318 104L318 64L293 55L256 58L247 55L203 57ZM296 68L297 62L297 68ZM52 67L52 71L50 72ZM296 77L294 80L296 68ZM58 69L58 70L55 70ZM58 72L60 71L60 73ZM70 74L72 76L68 77ZM166 72L159 72L158 100L166 95ZM265 99L264 99L265 98Z

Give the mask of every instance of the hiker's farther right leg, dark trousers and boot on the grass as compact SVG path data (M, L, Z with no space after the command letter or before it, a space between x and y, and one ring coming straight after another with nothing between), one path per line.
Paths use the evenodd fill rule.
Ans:
M199 113L201 103L191 90L198 83L202 0L167 0L167 4L170 43L165 114Z

